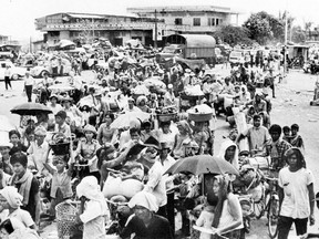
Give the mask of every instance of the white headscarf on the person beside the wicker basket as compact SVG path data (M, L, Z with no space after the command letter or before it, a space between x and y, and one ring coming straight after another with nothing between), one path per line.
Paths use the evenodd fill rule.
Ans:
M107 215L109 209L105 198L100 189L97 179L94 176L86 176L81 180L76 186L76 195L79 198L84 196L90 200L97 201L101 206L101 215Z

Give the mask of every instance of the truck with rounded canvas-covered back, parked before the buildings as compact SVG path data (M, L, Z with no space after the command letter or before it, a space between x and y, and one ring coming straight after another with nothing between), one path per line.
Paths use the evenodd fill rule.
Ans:
M216 58L216 40L207 34L172 34L166 38L166 44L156 55L157 62L163 59L178 56L187 60L205 60L212 64Z

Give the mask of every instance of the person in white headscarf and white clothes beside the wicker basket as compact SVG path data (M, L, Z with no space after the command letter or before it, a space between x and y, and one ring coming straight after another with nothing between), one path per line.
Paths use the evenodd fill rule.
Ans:
M76 187L76 195L82 201L79 219L83 222L83 239L104 238L105 216L110 211L97 179L84 177Z

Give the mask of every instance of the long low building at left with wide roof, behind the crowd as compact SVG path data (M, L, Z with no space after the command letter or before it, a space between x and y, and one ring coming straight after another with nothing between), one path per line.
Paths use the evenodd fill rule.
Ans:
M135 14L65 12L35 19L35 27L37 30L44 32L44 42L48 45L54 45L62 39L88 43L96 38L105 38L114 45L123 45L131 39L138 39L142 43L150 45L154 41L155 28L163 29L164 21L157 21L155 27L155 19L141 18ZM161 34L162 32L160 37Z

